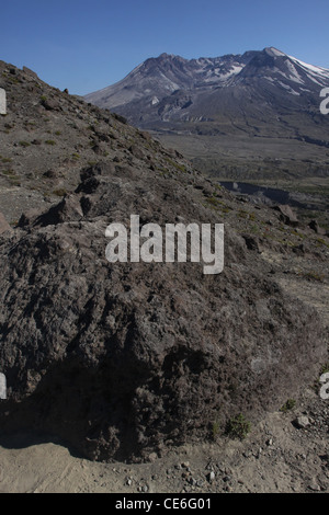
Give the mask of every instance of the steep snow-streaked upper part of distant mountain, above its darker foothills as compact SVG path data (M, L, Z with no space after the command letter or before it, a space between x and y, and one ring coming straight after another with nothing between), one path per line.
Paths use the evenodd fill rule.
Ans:
M86 96L101 107L115 108L135 123L173 117L204 104L204 96L225 88L265 81L284 95L316 94L329 85L329 70L307 65L276 48L215 58L184 59L161 54L137 66L125 79ZM253 84L257 87L257 84ZM164 102L163 102L164 101ZM201 115L203 113L200 113Z

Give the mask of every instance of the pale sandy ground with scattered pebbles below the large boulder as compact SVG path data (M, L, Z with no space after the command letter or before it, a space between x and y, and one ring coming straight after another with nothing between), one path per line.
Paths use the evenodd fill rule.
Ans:
M307 413L309 425L293 422ZM246 440L186 446L143 465L98 464L57 444L1 448L1 492L328 492L329 401L311 389L288 413L272 413Z

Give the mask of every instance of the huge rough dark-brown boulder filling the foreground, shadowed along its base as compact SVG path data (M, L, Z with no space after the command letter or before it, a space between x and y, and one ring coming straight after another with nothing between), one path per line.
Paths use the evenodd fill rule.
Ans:
M81 176L73 195L0 238L3 432L42 431L97 460L143 459L238 413L259 420L311 380L325 353L317 314L231 227L218 275L106 261L106 226L131 214L220 222L198 188L149 169Z

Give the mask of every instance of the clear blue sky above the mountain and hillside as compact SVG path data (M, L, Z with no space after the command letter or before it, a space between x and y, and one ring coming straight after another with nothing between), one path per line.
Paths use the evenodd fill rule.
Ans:
M185 58L275 46L329 68L328 0L1 0L0 59L84 94L161 53Z

